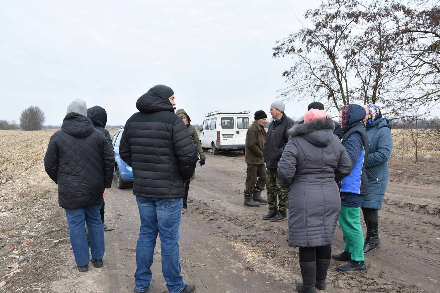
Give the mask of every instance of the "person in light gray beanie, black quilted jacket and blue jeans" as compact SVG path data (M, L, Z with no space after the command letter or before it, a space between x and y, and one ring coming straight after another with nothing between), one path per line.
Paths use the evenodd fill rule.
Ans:
M111 187L114 153L104 135L87 118L86 103L67 106L61 130L52 135L44 169L58 184L59 206L66 210L70 243L79 271L88 271L89 250L95 267L103 266L104 230L99 210Z

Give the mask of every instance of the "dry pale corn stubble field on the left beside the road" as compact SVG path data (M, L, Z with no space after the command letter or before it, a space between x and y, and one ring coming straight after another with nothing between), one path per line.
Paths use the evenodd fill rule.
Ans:
M20 284L23 277L48 282L51 278L44 274L62 265L46 261L53 258L50 253L62 244L68 250L68 240L57 241L68 239L68 229L58 206L57 185L43 163L55 131L0 131L0 275L6 291L34 289Z

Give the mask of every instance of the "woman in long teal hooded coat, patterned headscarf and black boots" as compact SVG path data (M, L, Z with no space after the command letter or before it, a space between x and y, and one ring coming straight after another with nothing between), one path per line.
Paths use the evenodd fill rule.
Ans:
M368 195L362 199L361 209L367 225L367 236L363 253L369 253L381 246L378 233L378 210L382 207L388 184L388 159L392 150L391 122L382 117L381 110L374 104L365 106L365 130L370 140L367 159Z

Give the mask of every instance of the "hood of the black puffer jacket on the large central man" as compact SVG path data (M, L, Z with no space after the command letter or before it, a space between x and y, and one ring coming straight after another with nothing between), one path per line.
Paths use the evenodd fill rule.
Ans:
M169 97L168 97L169 98ZM136 108L143 113L169 111L174 113L171 105L162 90L152 87L136 101Z

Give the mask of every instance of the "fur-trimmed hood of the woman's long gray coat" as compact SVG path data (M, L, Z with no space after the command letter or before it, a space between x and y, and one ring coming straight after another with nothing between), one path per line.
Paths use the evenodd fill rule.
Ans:
M365 115L364 115L365 116ZM296 124L288 131L290 136L301 135L306 141L319 148L329 145L334 139L335 124L330 118L312 120L308 123Z

